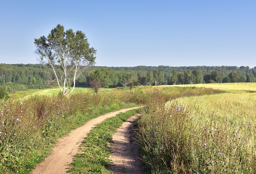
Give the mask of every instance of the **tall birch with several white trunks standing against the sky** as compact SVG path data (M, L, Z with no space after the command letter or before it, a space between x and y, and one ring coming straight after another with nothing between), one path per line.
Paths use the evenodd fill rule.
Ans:
M82 31L64 31L58 24L47 37L35 39L36 54L43 64L53 71L58 87L63 96L67 96L75 88L76 78L85 69L94 64L96 50L90 47L88 39ZM72 90L68 91L71 83ZM66 89L67 87L67 89Z

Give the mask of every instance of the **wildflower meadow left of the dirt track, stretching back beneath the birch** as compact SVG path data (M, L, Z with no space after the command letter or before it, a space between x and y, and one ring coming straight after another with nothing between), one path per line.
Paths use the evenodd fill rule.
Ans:
M145 105L155 95L166 102L220 93L204 88L150 86L101 90L97 94L78 88L68 97L56 95L57 91L22 91L0 101L0 173L28 173L49 154L59 137L104 113Z

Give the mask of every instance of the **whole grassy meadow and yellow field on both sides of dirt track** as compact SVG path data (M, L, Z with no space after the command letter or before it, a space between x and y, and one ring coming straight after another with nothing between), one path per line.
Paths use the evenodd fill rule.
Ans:
M145 107L136 139L148 173L255 173L255 92L256 83L136 86L97 94L77 88L68 97L58 89L20 91L0 101L0 173L28 173L58 137L104 113L139 105Z

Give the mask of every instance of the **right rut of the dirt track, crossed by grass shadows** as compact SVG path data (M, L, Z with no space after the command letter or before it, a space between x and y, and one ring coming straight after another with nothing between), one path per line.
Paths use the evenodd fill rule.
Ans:
M130 117L113 134L114 145L109 158L113 164L108 169L115 174L144 174L139 148L133 139L133 127L138 118L139 115Z

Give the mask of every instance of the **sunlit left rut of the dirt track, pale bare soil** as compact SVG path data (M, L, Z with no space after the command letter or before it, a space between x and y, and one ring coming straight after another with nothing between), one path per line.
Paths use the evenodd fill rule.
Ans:
M139 108L139 107L135 107L135 108ZM64 174L66 173L68 165L72 163L73 156L79 152L79 146L83 142L84 138L88 135L90 130L92 130L92 128L102 123L105 119L114 117L120 112L126 112L128 110L132 110L135 108L128 108L128 109L122 109L116 112L110 112L106 115L102 115L100 117L97 117L95 119L88 121L83 126L77 128L76 130L72 130L70 134L58 140L58 143L52 150L52 153L42 163L40 163L31 173L32 174ZM127 154L124 153L121 155L126 156ZM127 165L128 165L128 162L127 162ZM139 174L139 173L136 172L136 174Z

